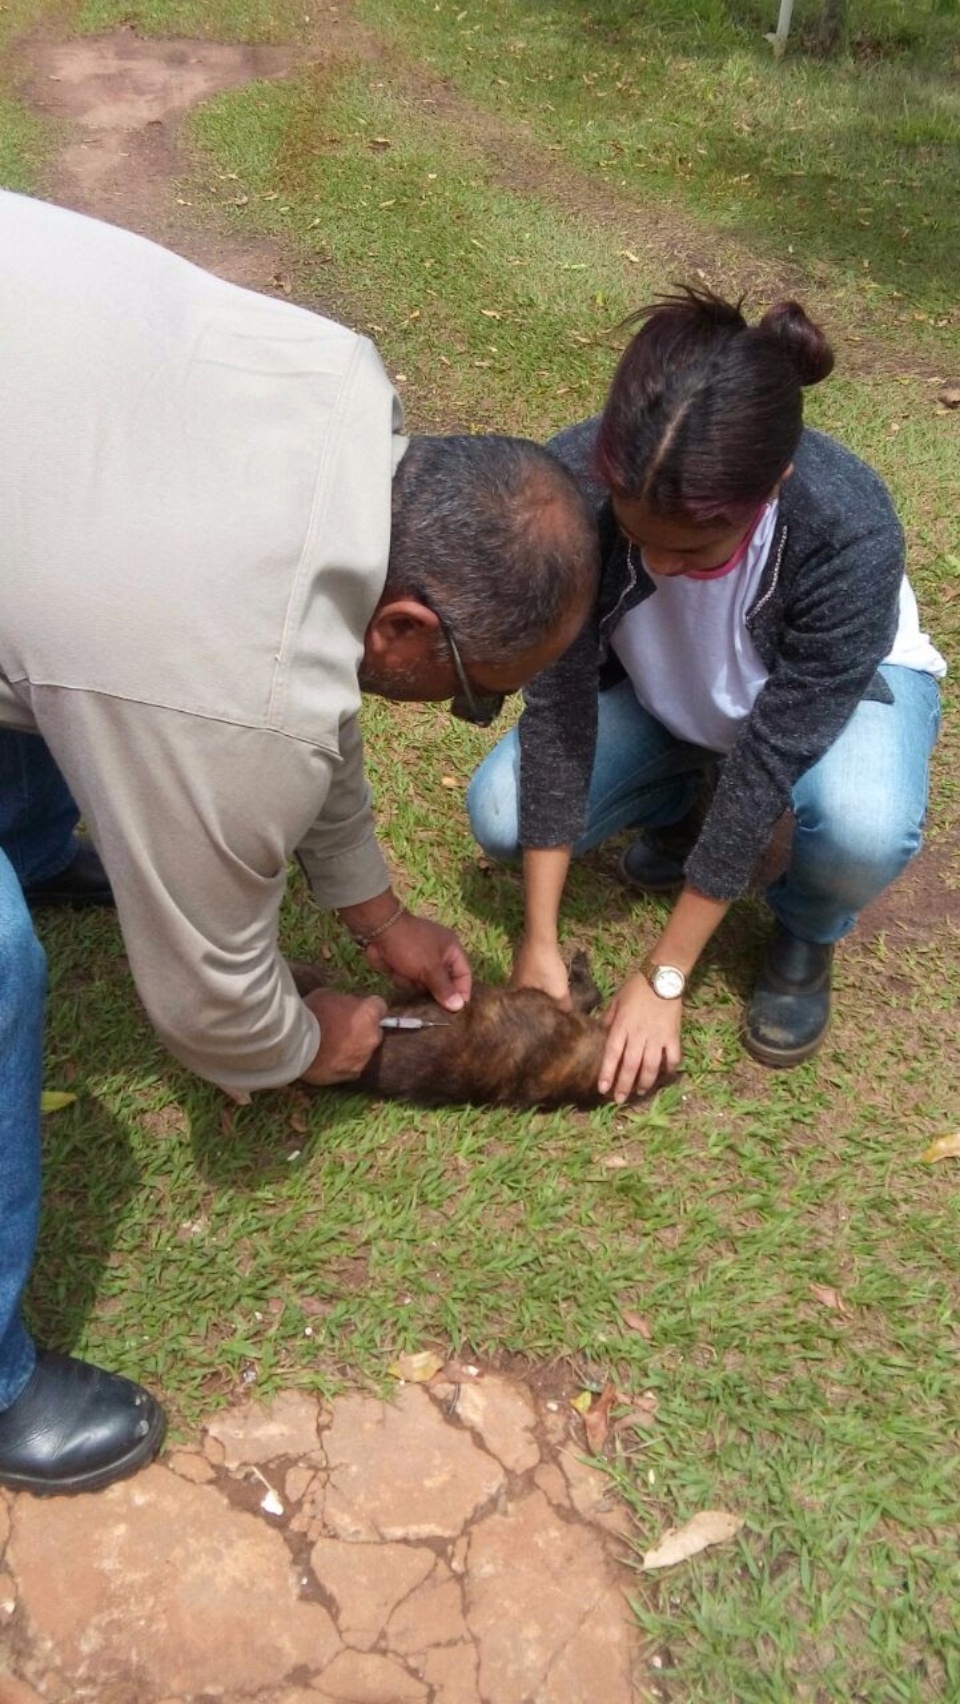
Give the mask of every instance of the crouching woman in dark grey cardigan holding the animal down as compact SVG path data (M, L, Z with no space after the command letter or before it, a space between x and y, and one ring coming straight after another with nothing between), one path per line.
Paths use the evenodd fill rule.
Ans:
M607 1010L619 1101L677 1067L685 983L788 808L742 1039L766 1065L815 1053L836 942L921 845L945 673L883 482L803 428L801 389L834 365L803 308L749 325L685 290L638 322L600 419L551 443L597 509L595 617L467 796L484 852L523 859L518 985L566 995L570 859L609 835L639 830L631 888L679 893Z

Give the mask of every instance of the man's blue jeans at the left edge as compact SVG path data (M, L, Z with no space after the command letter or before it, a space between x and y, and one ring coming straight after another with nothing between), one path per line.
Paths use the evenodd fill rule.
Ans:
M20 1297L41 1200L46 959L22 888L67 869L75 825L77 806L39 734L0 729L0 1409L36 1361Z

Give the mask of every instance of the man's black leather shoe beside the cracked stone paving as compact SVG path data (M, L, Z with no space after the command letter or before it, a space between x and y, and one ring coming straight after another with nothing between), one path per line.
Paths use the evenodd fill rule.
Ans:
M10 1491L101 1491L153 1460L167 1421L130 1379L41 1350L0 1414L0 1484Z

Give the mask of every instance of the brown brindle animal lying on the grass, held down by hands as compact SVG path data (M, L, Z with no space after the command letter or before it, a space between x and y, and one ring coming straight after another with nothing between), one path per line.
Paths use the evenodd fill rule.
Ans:
M292 966L300 993L321 987L312 966ZM600 995L578 953L570 971L573 1010L539 988L474 983L460 1012L430 999L394 1002L390 1014L430 1028L384 1031L358 1084L384 1099L425 1106L600 1106L597 1092L607 1031L592 1016Z

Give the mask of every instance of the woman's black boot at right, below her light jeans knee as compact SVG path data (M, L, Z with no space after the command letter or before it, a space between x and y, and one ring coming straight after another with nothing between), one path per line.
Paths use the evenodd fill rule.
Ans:
M832 961L832 946L776 925L740 1033L760 1065L800 1065L817 1051L830 1022Z

